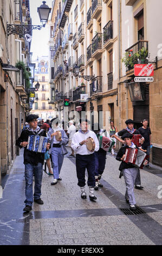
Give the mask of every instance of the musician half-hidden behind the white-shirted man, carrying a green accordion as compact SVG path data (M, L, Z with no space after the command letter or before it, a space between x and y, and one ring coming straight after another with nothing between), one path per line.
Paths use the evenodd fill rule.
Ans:
M100 129L98 123L94 124L93 131L95 132L98 140L100 139L100 136L105 136L105 137L110 138L108 131ZM103 185L100 182L100 179L101 179L101 176L105 169L106 153L107 152L105 150L103 150L102 148L99 148L98 151L94 152L94 156L95 156L95 187L94 187L94 190L98 190L99 187L103 187Z

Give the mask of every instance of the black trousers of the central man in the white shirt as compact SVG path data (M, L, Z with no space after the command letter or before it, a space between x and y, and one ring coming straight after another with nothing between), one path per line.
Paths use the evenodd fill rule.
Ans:
M83 187L86 185L85 172L88 172L88 186L95 187L95 158L94 154L79 155L76 154L76 174L77 185Z

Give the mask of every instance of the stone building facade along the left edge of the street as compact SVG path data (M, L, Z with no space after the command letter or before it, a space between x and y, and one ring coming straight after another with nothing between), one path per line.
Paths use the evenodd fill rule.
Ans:
M0 184L1 175L9 172L19 154L15 142L29 112L26 80L22 69L16 69L15 65L23 62L28 68L30 43L24 36L10 34L7 22L8 25L31 24L29 1L0 1Z

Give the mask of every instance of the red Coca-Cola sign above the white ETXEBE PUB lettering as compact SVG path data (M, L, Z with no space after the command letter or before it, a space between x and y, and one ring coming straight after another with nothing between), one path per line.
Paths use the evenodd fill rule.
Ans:
M135 76L153 76L153 64L135 64Z

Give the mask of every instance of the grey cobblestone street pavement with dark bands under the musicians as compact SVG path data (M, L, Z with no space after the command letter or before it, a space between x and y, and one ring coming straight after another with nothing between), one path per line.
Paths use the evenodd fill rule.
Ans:
M43 172L43 205L33 204L23 215L25 180L23 150L16 157L0 199L1 245L162 245L162 168L151 165L141 170L144 190L134 190L137 205L144 212L126 215L125 181L119 179L115 156L107 155L96 202L80 197L75 157L64 157L62 181L51 186L53 176ZM70 154L70 153L69 153ZM87 177L86 177L87 180Z

